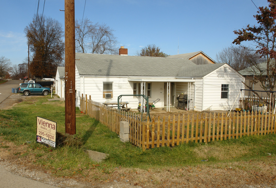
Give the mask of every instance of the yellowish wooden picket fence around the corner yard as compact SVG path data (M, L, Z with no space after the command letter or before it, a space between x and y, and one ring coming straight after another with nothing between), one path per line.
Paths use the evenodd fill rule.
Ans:
M118 111L102 103L81 97L80 110L106 125L111 131L120 133L120 121L129 122L129 141L143 150L153 147L177 146L180 143L210 142L214 140L238 139L248 135L276 133L276 116L271 112L228 114L197 113L182 116L174 115L141 117L130 112Z

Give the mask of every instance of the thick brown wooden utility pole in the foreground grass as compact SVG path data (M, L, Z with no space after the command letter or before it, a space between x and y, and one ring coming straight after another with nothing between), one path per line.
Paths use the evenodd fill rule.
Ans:
M65 0L65 133L76 134L74 0Z

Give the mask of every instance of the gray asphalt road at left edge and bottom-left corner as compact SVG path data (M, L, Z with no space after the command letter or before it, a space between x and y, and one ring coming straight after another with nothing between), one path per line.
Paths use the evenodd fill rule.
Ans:
M12 94L12 88L17 88L22 80L9 80L4 84L0 84L0 103L8 98ZM44 184L38 181L34 181L22 176L18 176L5 170L0 162L0 187L5 188L37 188L37 187L49 187L55 188L54 186Z

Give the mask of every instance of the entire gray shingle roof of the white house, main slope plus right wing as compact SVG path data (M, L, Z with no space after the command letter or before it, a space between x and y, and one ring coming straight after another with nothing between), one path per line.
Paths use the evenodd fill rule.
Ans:
M76 67L80 75L204 76L222 66L213 65L195 65L188 59L180 58L76 53Z

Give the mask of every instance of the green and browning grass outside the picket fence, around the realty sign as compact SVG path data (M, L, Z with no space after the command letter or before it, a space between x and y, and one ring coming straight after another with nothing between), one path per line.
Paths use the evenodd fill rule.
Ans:
M111 176L115 177L114 174L118 171L121 174L117 176L125 178L127 175L123 172L128 171L140 174L143 179L142 174L149 173L151 169L154 169L155 173L168 173L168 169L179 171L185 166L191 169L224 169L229 168L229 164L237 170L251 171L256 170L256 166L248 165L251 161L270 163L270 160L276 159L275 135L246 136L240 139L188 143L142 151L131 143L122 143L117 134L81 113L79 109L76 109L76 135L65 135L65 104L63 101L48 101L48 98L51 98L51 95L33 96L12 109L0 110L0 135L6 142L26 146L22 152L14 155L43 166L57 176L71 177L77 174L86 178L106 180ZM36 116L57 122L58 135L65 137L57 148L36 143ZM9 146L2 143L2 148L9 149ZM89 159L87 149L109 154L109 157L101 163L96 163ZM120 171L122 168L124 170ZM181 179L178 173L174 176ZM163 180L157 176L152 181L153 184L160 185Z

